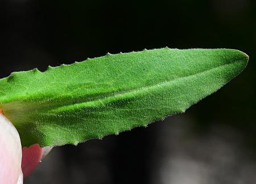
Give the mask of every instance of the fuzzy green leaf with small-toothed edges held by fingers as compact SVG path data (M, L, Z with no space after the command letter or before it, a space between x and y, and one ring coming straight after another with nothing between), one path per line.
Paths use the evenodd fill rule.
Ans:
M248 59L232 49L163 48L13 72L0 80L0 108L23 146L77 144L184 112Z

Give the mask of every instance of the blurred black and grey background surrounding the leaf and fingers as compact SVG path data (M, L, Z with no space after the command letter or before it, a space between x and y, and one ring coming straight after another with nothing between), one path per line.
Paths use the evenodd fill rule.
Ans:
M0 2L0 76L144 48L233 48L240 76L184 114L56 147L24 183L256 183L256 1Z

